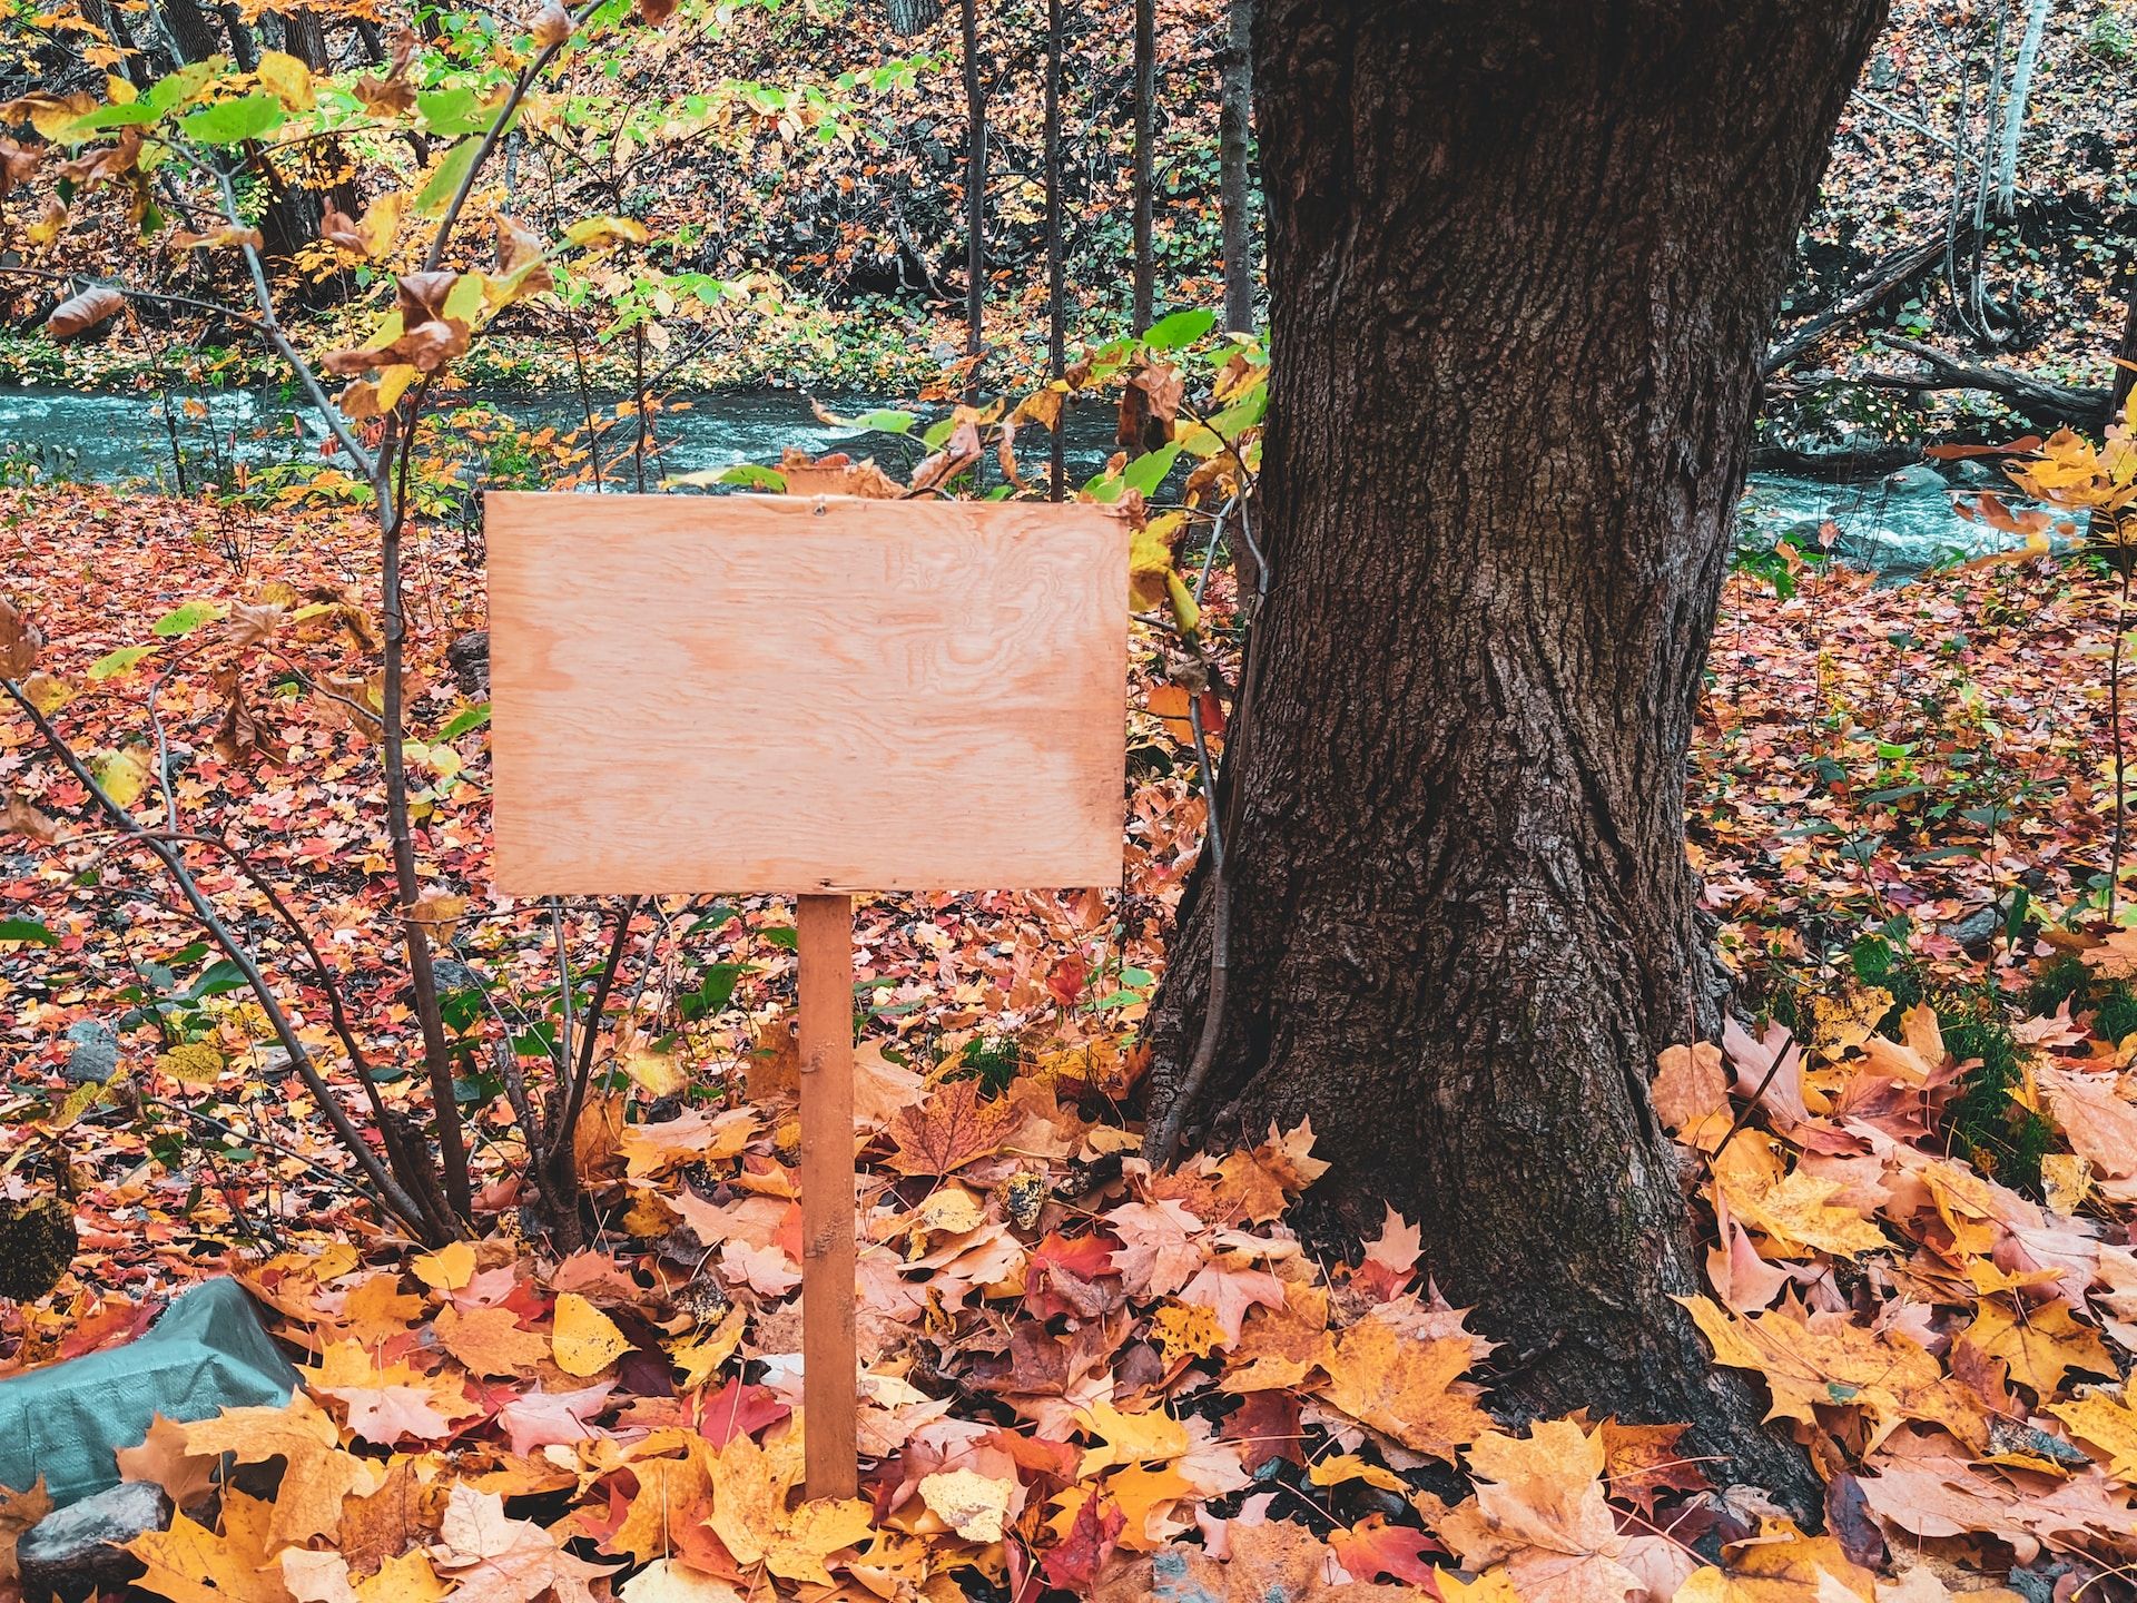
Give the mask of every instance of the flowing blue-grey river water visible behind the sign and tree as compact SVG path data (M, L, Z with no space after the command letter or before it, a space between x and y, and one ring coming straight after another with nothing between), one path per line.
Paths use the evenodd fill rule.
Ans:
M677 402L688 404L677 410ZM457 404L492 408L530 430L566 432L586 421L581 398L568 389L468 393ZM825 404L851 417L880 402L842 395L827 398ZM596 417L600 415L603 408L596 406ZM1113 449L1109 423L1098 406L1071 417L1071 483L1081 483L1105 464ZM38 481L141 483L162 489L180 489L184 483L197 489L201 483L231 483L239 464L259 474L278 464L316 460L321 434L316 413L271 391L175 395L167 406L154 393L0 389L0 483L34 474ZM1045 440L1039 430L1030 430L1026 440L1026 472L1032 472L1043 464ZM618 464L624 466L624 483L630 483L633 442L635 427L628 423L609 434L603 457L611 483ZM786 447L814 455L876 455L893 472L919 455L915 442L823 423L806 395L782 389L671 398L669 410L656 417L656 462L648 468L650 487L662 474L744 462L771 464ZM1968 464L1953 474L1915 466L1866 481L1754 472L1737 515L1737 543L1744 549L1769 549L1782 536L1793 539L1799 549L1829 543L1834 556L1851 566L1904 579L2005 545L2005 536L1966 522L1953 509L1957 492L1987 479L1985 470Z

